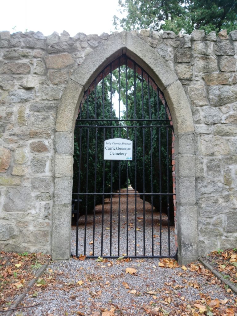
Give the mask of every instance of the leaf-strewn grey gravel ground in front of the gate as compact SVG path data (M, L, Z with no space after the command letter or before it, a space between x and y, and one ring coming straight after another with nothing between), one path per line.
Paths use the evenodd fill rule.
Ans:
M39 305L22 309L20 315L199 315L193 314L198 312L194 303L228 300L212 314L222 315L235 304L236 296L202 265L195 263L184 271L158 263L157 259L53 262L42 276L46 285L35 284L23 301L25 306ZM136 271L132 275L126 268ZM110 312L103 315L105 311Z

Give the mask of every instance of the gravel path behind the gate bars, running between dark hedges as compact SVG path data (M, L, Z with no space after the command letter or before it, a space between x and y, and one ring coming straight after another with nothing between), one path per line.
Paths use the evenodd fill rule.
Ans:
M134 190L129 188L129 193ZM121 193L126 193L126 189L122 189ZM78 238L78 254L92 255L94 247L94 255L98 256L120 256L122 254L128 256L135 255L135 246L137 255L142 256L145 252L146 256L152 255L152 241L154 255L175 255L175 228L168 228L168 219L165 214L162 214L160 222L160 214L153 212L153 231L152 231L152 212L151 204L145 202L145 216L143 213L143 201L137 197L137 214L135 216L135 199L133 195L128 196L128 201L125 195L121 195L120 200L120 218L119 218L119 197L113 197L112 204L109 198L104 201L104 220L102 213L102 205L96 206L95 216L95 237L93 241L93 214L87 216L86 225L86 252L84 253L85 240L85 216L79 219L79 238ZM128 212L127 212L128 202ZM112 205L112 216L110 226L110 207ZM135 222L136 219L136 222ZM144 222L145 222L145 237L144 237ZM102 223L104 225L102 230ZM119 228L118 228L119 227ZM118 234L118 232L120 234ZM128 232L128 238L127 238ZM161 232L161 239L160 239ZM169 236L168 236L169 234ZM103 250L101 252L101 243L103 236ZM152 238L153 236L153 238ZM111 238L111 249L110 249ZM170 239L170 252L169 241ZM76 226L72 226L72 243L71 251L76 253ZM119 251L118 251L119 242ZM128 251L128 254L127 254Z

